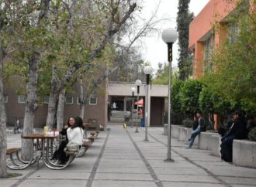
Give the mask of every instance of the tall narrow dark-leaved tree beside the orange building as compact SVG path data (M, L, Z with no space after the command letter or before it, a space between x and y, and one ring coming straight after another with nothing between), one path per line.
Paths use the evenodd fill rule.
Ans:
M189 51L189 23L194 17L193 13L189 12L190 0L178 1L178 68L179 78L186 80L192 74L192 53Z

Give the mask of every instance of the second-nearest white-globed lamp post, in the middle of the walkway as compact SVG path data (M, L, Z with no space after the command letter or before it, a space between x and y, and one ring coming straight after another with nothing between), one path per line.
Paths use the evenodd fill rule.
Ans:
M146 83L146 98L145 98L145 140L148 141L147 138L147 127L149 126L150 121L150 91L149 91L149 80L150 80L150 74L153 72L153 68L151 66L145 66L144 67L144 73L147 76L147 83Z

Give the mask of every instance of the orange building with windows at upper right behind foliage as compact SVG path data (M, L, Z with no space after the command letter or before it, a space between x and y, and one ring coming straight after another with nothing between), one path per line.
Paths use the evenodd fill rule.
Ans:
M251 0L250 10L255 11L256 5ZM237 26L228 22L229 16L239 11L238 0L210 0L189 26L189 49L194 54L193 78L198 79L207 71L216 70L210 57L214 50L219 49L227 39L234 42ZM214 117L214 128L218 127L218 119Z

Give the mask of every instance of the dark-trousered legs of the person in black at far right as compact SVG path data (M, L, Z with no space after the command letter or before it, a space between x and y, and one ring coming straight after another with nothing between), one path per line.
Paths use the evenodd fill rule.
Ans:
M232 144L234 136L228 136L223 139L223 142L220 145L221 159L226 162L232 162Z

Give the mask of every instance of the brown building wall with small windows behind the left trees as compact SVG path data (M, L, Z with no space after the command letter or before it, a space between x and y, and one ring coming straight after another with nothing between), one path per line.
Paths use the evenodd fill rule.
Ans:
M6 83L4 88L5 107L7 113L7 125L14 126L16 119L22 126L25 114L25 98L17 93L19 81ZM85 106L84 122L95 120L96 123L106 126L107 123L107 84L102 83L101 91L91 100L87 101ZM64 105L64 124L67 124L69 117L76 117L80 114L80 104L78 97L80 94L80 84L74 83L72 91L65 95ZM48 97L44 98L43 104L40 104L35 113L33 128L43 128L47 121Z

